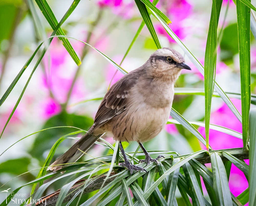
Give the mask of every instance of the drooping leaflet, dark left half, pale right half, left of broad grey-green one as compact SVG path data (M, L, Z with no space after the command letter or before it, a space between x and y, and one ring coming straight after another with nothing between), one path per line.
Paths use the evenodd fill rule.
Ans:
M190 166L190 164L187 162L183 166L183 171L186 176L188 189L190 190L190 197L192 198L192 202L195 205L205 205L204 197L201 192L201 188L198 185L197 178L195 176L195 173Z

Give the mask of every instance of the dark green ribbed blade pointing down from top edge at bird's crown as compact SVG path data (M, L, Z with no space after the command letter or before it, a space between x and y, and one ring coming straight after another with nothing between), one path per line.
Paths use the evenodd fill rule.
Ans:
M140 0L135 0L135 3L136 3L136 5L137 5L137 7L138 7L138 9L141 13L141 16L142 16L144 22L147 25L147 28L148 28L155 44L156 44L157 49L161 49L162 47L161 47L161 45L159 43L159 40L157 38L156 31L154 29L154 26L152 24L152 21L150 19L150 16L148 14L148 11L147 11L147 8L146 8L145 4L143 4Z

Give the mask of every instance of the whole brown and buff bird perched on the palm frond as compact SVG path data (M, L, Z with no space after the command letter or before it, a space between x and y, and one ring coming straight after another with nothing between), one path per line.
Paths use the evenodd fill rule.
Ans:
M106 92L88 132L66 153L53 162L48 170L57 171L63 164L77 161L103 134L119 141L124 163L131 175L144 168L131 164L122 142L137 141L145 153L145 162L159 164L142 143L156 137L165 127L174 98L174 85L182 69L191 70L182 54L172 48L156 50L141 67L119 79ZM81 152L83 151L83 152Z

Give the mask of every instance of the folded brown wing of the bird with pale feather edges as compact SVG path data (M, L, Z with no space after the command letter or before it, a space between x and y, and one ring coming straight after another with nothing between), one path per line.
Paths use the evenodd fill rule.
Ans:
M137 72L130 72L109 89L96 113L91 132L125 111L128 92L137 83L138 78Z

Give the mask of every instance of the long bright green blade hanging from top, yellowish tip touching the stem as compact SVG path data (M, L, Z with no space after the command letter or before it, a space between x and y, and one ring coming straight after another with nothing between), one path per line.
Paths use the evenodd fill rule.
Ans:
M216 60L217 60L217 27L222 0L212 0L210 26L205 50L205 137L206 149L209 150L209 124L211 99L213 94Z

